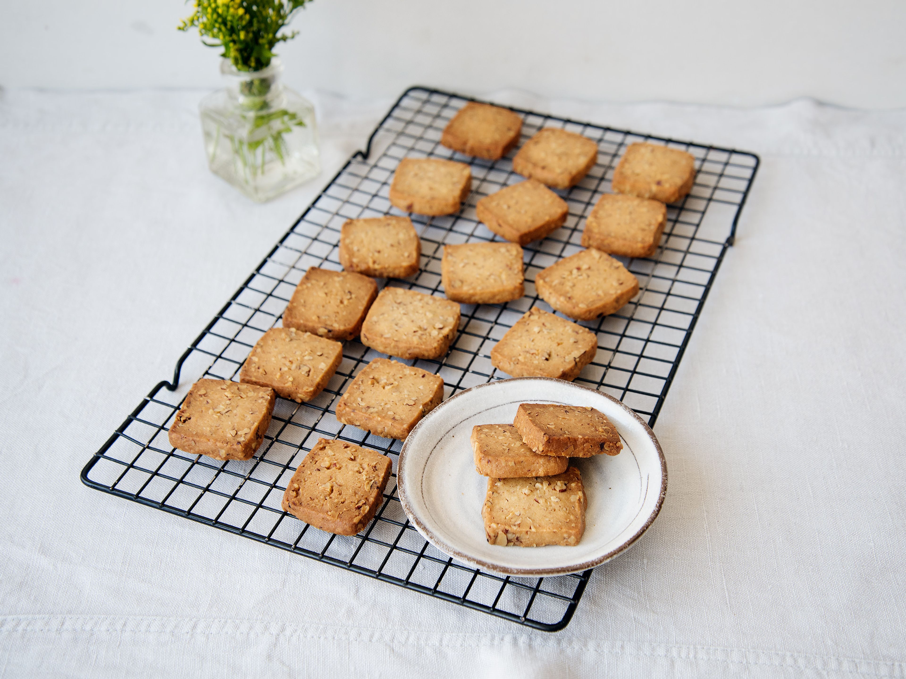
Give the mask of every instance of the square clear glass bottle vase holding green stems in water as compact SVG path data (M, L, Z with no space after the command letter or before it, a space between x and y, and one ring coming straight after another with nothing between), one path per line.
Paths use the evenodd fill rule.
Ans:
M211 171L259 202L321 172L314 107L283 86L282 71L276 58L254 72L225 59L229 86L198 105Z

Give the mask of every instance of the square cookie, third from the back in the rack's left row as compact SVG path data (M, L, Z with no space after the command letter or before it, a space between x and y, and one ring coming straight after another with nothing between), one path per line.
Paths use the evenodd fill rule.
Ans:
M340 263L346 271L406 278L419 271L421 241L409 217L349 219L340 230Z

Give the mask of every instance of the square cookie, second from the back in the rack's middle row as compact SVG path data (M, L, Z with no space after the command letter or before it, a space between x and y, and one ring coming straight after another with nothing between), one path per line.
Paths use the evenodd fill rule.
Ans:
M525 245L563 226L569 206L547 186L529 179L482 198L475 213L495 234Z

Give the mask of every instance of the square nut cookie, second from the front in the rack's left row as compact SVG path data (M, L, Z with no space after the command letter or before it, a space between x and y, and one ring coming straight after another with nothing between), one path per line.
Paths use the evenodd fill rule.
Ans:
M271 387L302 403L320 394L342 361L342 344L295 328L267 330L248 354L239 381Z

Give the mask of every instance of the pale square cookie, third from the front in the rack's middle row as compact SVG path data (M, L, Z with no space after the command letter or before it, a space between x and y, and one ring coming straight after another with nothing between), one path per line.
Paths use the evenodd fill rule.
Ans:
M437 359L459 328L459 305L414 290L384 288L361 324L361 343L400 359Z

